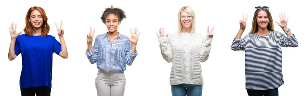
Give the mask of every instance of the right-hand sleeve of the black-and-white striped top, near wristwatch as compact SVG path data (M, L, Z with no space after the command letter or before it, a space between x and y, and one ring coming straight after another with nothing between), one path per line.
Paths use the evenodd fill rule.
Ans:
M297 47L298 46L298 42L294 35L286 37L284 36L284 34L281 34L280 43L282 47Z

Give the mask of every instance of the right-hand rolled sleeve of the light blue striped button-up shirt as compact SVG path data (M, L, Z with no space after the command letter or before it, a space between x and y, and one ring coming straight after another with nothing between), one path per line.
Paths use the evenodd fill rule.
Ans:
M130 66L132 65L135 57L138 55L138 52L137 50L135 50L135 53L132 52L130 41L127 41L125 47L126 47L126 52L125 52L126 64Z

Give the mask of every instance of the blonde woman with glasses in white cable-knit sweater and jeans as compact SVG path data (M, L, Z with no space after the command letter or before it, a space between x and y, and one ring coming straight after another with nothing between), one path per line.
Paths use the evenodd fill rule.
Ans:
M200 62L208 59L214 27L205 37L195 32L195 13L188 7L178 12L178 32L166 34L164 29L157 33L161 54L172 62L170 85L174 96L201 96L203 76Z

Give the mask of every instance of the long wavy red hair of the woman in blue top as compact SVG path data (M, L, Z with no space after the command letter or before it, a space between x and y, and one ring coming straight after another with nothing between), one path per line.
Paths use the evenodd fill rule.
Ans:
M42 9L41 7L38 7L38 6L34 6L34 7L29 8L27 15L26 15L26 18L25 18L26 19L26 26L24 28L24 32L25 32L26 35L29 35L29 36L36 33L35 30L33 29L31 22L29 21L31 13L34 10L37 10L42 15L43 23L42 23L42 26L41 26L41 29L42 29L41 33L44 37L46 37L46 35L49 33L49 29L50 29L50 27L47 23L48 18L46 16L44 9Z

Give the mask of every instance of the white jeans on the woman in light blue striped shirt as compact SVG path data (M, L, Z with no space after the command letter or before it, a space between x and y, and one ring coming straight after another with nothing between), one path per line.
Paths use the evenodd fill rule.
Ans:
M123 96L125 90L124 71L107 73L99 69L95 86L98 96Z

